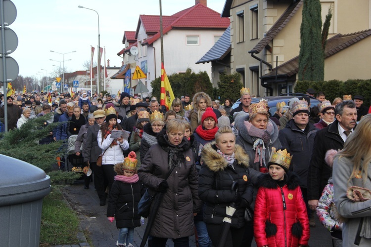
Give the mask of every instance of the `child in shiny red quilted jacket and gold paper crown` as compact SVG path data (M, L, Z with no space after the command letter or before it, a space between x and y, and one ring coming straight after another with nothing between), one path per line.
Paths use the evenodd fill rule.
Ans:
M286 149L276 152L273 148L269 173L259 178L254 210L254 237L258 247L308 246L307 207L299 177L289 171L291 158Z

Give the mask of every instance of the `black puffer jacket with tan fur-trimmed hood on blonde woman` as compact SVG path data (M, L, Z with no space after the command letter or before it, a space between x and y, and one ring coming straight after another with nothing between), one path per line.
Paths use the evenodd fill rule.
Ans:
M208 143L201 152L203 164L199 173L198 194L206 203L204 221L207 224L222 224L226 207L237 200L238 207L233 214L231 227L241 228L245 225L245 207L253 201L249 157L241 146L236 145L233 169L216 150L215 143ZM231 189L233 181L238 182L237 199L236 192ZM238 197L241 199L238 200Z

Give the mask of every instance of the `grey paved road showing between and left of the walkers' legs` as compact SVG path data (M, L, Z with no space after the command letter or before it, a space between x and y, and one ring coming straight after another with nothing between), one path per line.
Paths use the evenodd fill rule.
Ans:
M77 181L74 185L63 189L63 194L71 207L77 212L81 227L90 233L92 246L94 247L115 247L118 229L115 221L113 223L107 220L107 206L99 206L99 199L94 190L94 185L91 183L90 189L84 190L82 180ZM309 246L315 247L331 247L331 237L328 231L321 225L316 217L316 227L311 227L311 238ZM145 225L135 228L134 246L140 245L141 237ZM168 247L173 247L173 242L168 240ZM189 246L195 247L194 236L189 237ZM252 245L255 247L255 242Z

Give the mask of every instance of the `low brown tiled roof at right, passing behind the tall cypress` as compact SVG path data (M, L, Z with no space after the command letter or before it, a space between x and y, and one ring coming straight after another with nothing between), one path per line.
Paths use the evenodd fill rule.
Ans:
M325 59L369 36L371 36L371 29L352 34L335 35L334 37L327 40L325 47ZM286 75L290 77L297 74L299 72L299 56L294 57L286 63L279 65L270 73L264 75L263 78L276 75L276 69L278 69L278 75Z

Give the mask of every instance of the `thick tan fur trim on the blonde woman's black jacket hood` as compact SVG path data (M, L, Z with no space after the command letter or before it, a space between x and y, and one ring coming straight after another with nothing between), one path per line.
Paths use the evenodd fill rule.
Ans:
M249 156L245 153L243 148L236 144L234 150L234 158L238 165L249 167ZM201 161L204 162L210 170L217 172L224 170L228 163L227 161L217 153L217 147L215 142L206 144L201 151Z

